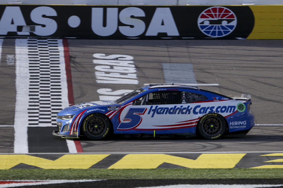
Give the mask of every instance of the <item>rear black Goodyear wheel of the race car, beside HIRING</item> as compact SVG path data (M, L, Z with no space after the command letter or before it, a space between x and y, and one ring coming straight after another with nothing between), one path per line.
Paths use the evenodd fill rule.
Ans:
M225 119L219 114L206 114L198 122L198 132L205 139L218 139L224 135L225 131Z

